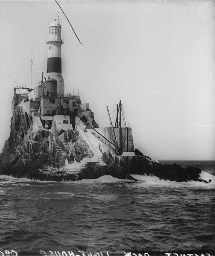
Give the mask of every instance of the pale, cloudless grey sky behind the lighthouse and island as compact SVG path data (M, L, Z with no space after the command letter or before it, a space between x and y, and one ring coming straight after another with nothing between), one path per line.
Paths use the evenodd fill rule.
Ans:
M122 100L134 146L157 160L215 160L215 1L0 1L0 148L13 87L46 72L48 27L60 16L66 92L100 127ZM45 75L46 76L46 75ZM113 122L114 122L113 121ZM115 123L115 122L114 122Z

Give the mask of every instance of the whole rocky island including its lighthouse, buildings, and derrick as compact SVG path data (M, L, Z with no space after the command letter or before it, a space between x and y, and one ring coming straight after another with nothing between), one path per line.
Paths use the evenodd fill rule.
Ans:
M34 89L14 88L10 136L0 154L0 174L39 180L95 179L111 175L154 175L177 182L198 180L201 170L162 165L134 149L131 127L122 121L99 128L88 103L64 93L61 75L61 25L49 25L47 72ZM108 111L108 108L107 108ZM109 111L108 111L109 113Z

